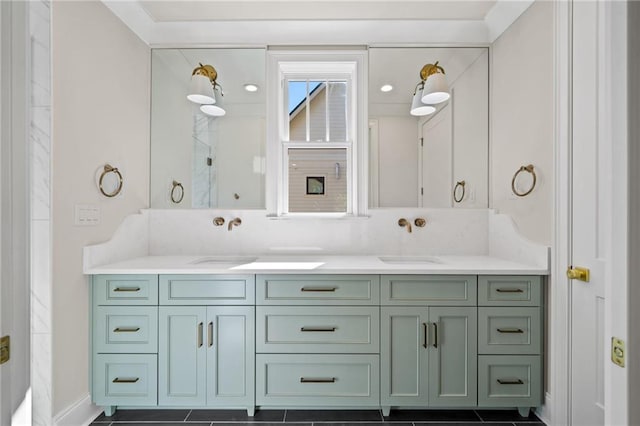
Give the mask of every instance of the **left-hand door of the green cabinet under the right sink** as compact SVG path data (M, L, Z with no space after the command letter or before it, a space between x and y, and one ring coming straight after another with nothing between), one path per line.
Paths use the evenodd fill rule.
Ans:
M428 403L428 311L398 307L381 310L381 405Z

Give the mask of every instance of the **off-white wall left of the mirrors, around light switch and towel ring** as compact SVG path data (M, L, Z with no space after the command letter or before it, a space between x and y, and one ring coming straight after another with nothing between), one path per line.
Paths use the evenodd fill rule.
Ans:
M98 1L52 2L53 413L88 394L88 286L82 247L108 239L149 200L150 50ZM105 198L96 171L124 176ZM74 206L93 204L101 223L74 226Z

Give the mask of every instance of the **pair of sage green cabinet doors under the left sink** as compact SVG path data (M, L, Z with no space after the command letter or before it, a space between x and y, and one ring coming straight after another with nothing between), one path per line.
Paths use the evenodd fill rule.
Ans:
M253 412L252 306L161 306L158 402Z

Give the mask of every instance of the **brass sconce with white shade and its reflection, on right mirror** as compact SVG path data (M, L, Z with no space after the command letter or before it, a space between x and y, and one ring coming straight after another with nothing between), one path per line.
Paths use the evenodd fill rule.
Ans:
M451 97L444 68L435 64L426 64L420 70L420 82L416 85L411 102L411 115L433 114L437 105Z

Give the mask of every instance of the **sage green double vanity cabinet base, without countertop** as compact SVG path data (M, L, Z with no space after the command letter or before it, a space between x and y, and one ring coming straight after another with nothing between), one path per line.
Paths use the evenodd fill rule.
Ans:
M542 404L537 275L93 275L91 394L121 407Z

